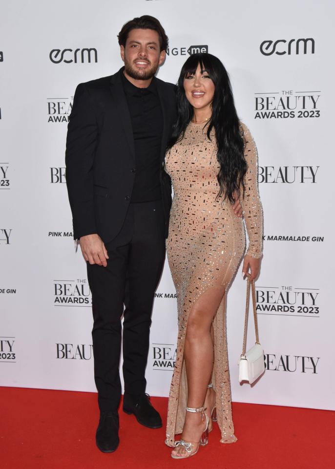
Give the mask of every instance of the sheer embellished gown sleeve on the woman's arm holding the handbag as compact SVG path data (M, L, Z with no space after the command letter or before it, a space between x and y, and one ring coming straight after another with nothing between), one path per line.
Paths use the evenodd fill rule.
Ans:
M245 193L244 197L242 194L240 197L249 238L247 254L252 257L261 257L263 252L263 208L257 183L258 154L249 128L244 124L241 125L245 139L244 157L248 164L244 177Z

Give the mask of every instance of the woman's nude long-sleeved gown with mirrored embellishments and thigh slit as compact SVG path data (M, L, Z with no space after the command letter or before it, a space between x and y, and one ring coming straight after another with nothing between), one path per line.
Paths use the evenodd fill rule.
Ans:
M248 170L245 195L240 197L253 257L262 255L263 212L257 188L257 149L249 129L241 124ZM182 433L187 405L187 377L183 360L188 315L196 301L210 289L222 288L222 300L213 321L217 422L221 443L236 441L231 417L230 377L226 336L226 291L245 250L245 229L228 200L217 197L219 163L215 134L207 137L204 125L190 123L184 138L166 157L166 171L174 191L167 238L167 258L178 305L178 344L168 412L168 446Z

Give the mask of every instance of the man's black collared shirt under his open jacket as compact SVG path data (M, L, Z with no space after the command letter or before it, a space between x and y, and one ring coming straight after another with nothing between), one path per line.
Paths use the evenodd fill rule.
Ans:
M134 136L136 174L130 202L149 202L162 197L160 187L160 153L163 113L152 79L147 88L138 88L122 74Z

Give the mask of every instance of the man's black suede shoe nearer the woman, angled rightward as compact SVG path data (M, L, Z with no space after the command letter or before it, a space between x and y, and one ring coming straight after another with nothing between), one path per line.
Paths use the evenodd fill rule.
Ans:
M134 414L137 422L148 428L161 428L162 419L157 410L150 404L150 396L142 394L139 397L125 394L123 400L123 411L126 414Z

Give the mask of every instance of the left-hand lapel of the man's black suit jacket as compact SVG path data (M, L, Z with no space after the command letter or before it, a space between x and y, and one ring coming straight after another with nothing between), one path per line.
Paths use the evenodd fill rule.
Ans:
M131 158L133 160L133 163L135 163L133 129L131 127L131 120L126 95L122 86L121 73L123 73L123 67L111 77L110 90L117 108L120 122L125 132L126 140L130 149Z

